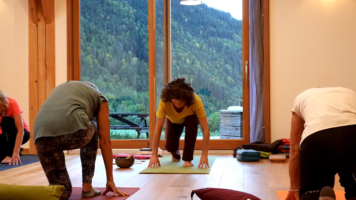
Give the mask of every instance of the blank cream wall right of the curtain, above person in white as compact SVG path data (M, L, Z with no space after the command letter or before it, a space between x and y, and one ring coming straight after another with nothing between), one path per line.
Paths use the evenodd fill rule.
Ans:
M271 140L289 138L294 98L315 87L356 91L356 1L270 2Z

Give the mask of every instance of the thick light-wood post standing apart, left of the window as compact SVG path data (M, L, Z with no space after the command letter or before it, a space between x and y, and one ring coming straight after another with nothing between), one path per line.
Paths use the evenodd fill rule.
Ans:
M30 132L43 102L55 87L54 0L28 0L28 89ZM30 137L30 154L36 154Z

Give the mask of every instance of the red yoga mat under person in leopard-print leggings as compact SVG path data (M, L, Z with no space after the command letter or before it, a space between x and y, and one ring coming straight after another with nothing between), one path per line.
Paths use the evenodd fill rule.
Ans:
M83 188L73 188L72 190L72 195L70 195L69 200L88 200L88 198L82 198L82 189ZM95 188L97 190L100 190L101 192L105 191L106 188ZM129 194L129 196L119 196L119 197L115 197L114 193L109 192L108 194L104 195L98 195L98 196L94 196L91 197L90 199L93 200L110 200L110 199L127 199L129 198L131 195L133 195L135 192L137 192L140 188L117 188L127 194Z

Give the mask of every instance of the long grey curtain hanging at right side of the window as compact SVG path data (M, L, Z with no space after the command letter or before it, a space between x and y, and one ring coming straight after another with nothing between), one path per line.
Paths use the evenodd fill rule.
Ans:
M265 141L263 0L249 1L250 20L250 142Z

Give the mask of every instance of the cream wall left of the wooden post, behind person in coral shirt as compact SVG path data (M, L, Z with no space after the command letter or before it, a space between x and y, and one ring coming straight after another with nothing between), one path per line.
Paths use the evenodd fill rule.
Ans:
M0 24L0 90L19 102L28 122L28 1L0 0Z

